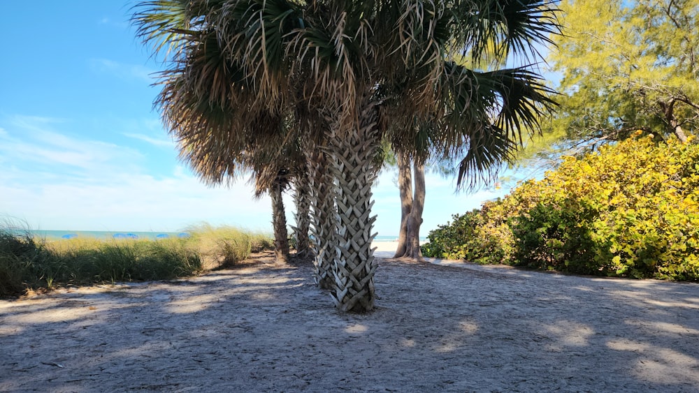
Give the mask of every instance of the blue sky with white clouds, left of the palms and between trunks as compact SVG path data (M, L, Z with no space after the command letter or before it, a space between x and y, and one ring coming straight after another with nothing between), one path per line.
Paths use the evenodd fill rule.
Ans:
M241 179L208 188L152 110L160 65L122 1L6 1L0 24L0 216L41 230L177 231L207 221L271 231L271 202ZM421 235L499 191L455 194L427 176ZM379 235L398 232L396 171L373 188ZM287 199L287 218L293 205Z

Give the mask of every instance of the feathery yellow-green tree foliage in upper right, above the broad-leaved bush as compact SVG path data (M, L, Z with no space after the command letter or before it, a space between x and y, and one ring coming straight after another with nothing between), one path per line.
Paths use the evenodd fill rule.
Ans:
M561 73L554 133L625 139L699 127L697 0L564 0L549 54ZM545 130L547 133L547 130Z

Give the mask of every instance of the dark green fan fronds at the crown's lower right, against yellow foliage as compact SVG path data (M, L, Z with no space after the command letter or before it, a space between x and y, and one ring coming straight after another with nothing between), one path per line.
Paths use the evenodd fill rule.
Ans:
M488 168L512 161L556 103L550 97L554 91L524 68L479 73L449 63L446 70L440 89L444 117L435 144L447 155L466 151L457 175L461 186L465 176L478 179L480 171L487 175Z

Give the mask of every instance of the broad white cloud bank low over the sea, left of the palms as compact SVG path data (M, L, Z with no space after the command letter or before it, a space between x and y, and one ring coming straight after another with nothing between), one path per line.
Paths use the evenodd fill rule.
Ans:
M19 119L19 120L17 120ZM56 230L179 230L199 221L271 228L266 198L252 187L207 188L176 166L155 176L143 153L53 131L52 122L15 117L0 133L0 215Z

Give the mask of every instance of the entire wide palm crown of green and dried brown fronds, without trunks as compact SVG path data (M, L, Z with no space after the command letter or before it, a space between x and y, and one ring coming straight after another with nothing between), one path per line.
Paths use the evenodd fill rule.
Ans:
M559 32L554 0L151 0L134 9L138 36L170 60L156 106L182 159L210 183L241 168L259 171L259 184L276 179L293 166L284 155L299 133L341 136L361 124L366 101L396 148L463 155L459 184L484 179L555 106L528 67L478 72L453 61L456 50L476 60L535 54Z

